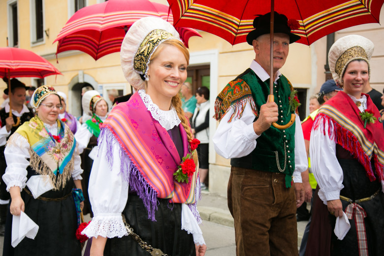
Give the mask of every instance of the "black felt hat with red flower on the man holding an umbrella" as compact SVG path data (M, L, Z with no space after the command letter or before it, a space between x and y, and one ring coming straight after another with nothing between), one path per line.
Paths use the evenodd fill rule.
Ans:
M268 12L264 15L258 15L254 20L254 28L255 30L251 31L247 35L247 43L252 45L253 40L259 37L262 34L270 33L270 21L271 13ZM289 43L294 43L300 39L300 36L297 34L291 33L292 29L298 29L298 21L289 20L287 16L284 14L279 14L275 12L274 14L274 25L273 30L274 33L285 33L289 36Z

